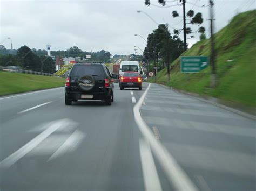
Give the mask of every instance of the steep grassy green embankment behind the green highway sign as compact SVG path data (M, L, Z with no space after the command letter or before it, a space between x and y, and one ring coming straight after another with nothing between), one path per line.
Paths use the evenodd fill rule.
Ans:
M171 80L166 68L158 73L157 82L193 93L256 106L256 10L240 13L215 34L218 85L210 88L211 68L199 73L180 73L180 58L172 63ZM181 56L210 55L210 39L194 44ZM153 80L152 80L153 81Z

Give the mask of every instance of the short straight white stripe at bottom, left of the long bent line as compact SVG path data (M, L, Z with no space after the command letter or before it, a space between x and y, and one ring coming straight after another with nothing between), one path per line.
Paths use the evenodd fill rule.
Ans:
M149 143L144 140L139 140L140 160L142 162L142 171L144 185L146 191L161 191L161 184L158 178L156 165L154 164L153 156L150 150Z

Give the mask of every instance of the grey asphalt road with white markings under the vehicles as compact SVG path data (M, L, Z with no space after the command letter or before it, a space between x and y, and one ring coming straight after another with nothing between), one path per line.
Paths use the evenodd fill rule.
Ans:
M0 189L255 190L255 121L158 84L110 107L64 88L0 98Z

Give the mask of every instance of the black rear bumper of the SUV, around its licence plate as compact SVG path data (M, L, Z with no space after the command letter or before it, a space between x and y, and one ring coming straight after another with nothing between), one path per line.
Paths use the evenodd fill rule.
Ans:
M106 100L107 97L111 96L112 89L105 88L103 93L91 93L83 91L70 91L69 88L65 88L65 95L72 100ZM81 95L92 95L92 98L81 98Z

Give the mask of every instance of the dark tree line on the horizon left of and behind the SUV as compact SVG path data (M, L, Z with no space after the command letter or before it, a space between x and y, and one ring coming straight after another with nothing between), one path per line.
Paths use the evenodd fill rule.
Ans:
M109 62L111 53L109 51L86 52L77 46L70 47L66 51L51 51L51 56L59 57L80 57L86 58L90 55L91 61ZM0 66L19 66L23 69L33 70L37 72L55 73L55 60L47 56L47 51L42 49L30 49L28 46L22 46L19 49L6 49L0 45Z

